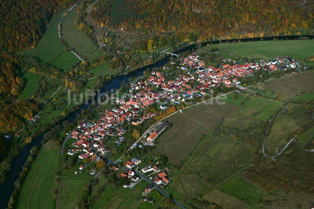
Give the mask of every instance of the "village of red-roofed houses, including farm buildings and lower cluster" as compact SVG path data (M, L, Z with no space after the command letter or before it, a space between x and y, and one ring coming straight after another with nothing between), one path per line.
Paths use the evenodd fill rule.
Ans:
M152 71L148 78L140 79L129 84L129 93L115 97L116 106L107 108L95 121L82 121L77 129L72 131L69 137L75 140L72 149L68 149L68 155L78 155L80 161L75 174L89 169L93 175L97 169L89 166L91 162L108 161L108 154L112 149L123 143L125 131L131 125L140 126L143 121L153 118L156 113L148 111L155 105L160 111L166 111L176 105L182 104L187 99L211 94L219 88L231 88L241 84L242 78L255 76L258 70L273 72L296 68L295 63L289 57L276 57L271 62L259 63L235 63L226 64L221 68L205 66L205 62L193 53L185 57L176 67L175 72L169 72L172 61L163 67L163 72ZM242 84L243 85L243 84ZM245 86L245 85L243 85ZM153 146L154 141L166 129L167 122L155 123L139 143L134 143L130 149L142 148L145 145ZM145 142L145 143L143 143ZM88 160L86 160L88 159ZM121 158L120 158L121 162ZM159 162L142 165L141 159L134 157L123 166L117 166L117 162L111 163L110 172L119 172L119 178L123 179L123 187L132 189L143 178L149 178L152 182L143 191L144 201L153 203L148 195L154 188L165 189L170 184L170 172L166 167L158 167Z

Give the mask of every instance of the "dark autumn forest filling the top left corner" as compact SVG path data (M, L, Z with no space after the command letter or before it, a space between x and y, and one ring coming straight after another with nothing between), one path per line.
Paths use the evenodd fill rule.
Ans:
M0 5L0 50L21 51L35 48L51 16L75 0L7 0Z

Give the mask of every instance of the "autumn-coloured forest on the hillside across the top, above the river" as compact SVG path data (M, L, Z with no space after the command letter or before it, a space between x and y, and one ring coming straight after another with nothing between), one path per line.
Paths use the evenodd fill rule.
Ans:
M111 29L159 35L155 45L146 41L145 50L152 50L178 32L174 42L312 34L313 8L313 1L298 0L101 0L91 17Z

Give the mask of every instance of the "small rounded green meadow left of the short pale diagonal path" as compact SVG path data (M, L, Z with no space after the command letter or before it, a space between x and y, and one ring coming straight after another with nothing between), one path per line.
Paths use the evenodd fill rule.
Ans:
M56 57L49 64L61 69L63 72L71 70L71 67L78 63L80 60L72 52L66 51L63 52L60 56Z

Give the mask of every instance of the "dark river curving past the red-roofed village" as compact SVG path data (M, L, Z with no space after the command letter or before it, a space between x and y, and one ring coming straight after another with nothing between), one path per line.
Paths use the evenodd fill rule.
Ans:
M273 40L274 38L282 39L282 40L295 40L298 39L300 35L288 35L288 36L269 36L269 37L263 37L263 40ZM309 37L310 39L314 38L314 35L303 35L303 37ZM245 39L230 39L230 40L220 40L221 43L225 43L227 41L238 41L241 40L241 42L247 42L247 41L260 41L261 38L245 38ZM207 41L203 42L202 46L206 46L207 44L219 44L219 40L214 41ZM182 53L183 51L192 50L192 48L196 47L197 44L192 44L189 46L184 47L183 49L180 49L178 51L175 51L175 54ZM162 67L165 64L169 62L169 56L166 56L165 58L150 64L148 66L140 67L128 74L120 75L115 78L112 78L110 81L105 83L101 93L105 93L106 91L110 91L111 89L118 89L121 87L121 83L124 81L125 83L129 82L129 78L138 77L143 75L143 72L149 68L152 69L153 67ZM96 100L95 100L96 101ZM84 109L88 108L88 104L82 105L79 110L74 111L71 113L68 117L66 117L64 120L68 120L69 123L73 122L76 119L77 113L81 112ZM62 123L62 121L60 123ZM14 181L19 178L19 173L22 170L22 166L27 161L27 157L30 155L30 149L34 146L41 147L41 141L43 140L44 133L40 136L36 137L30 144L26 145L19 154L14 158L11 165L11 171L7 174L3 184L0 188L0 208L5 208L8 205L8 201L10 199L10 196L12 192L14 191ZM40 175L40 174L38 174ZM36 184L36 182L34 182Z

